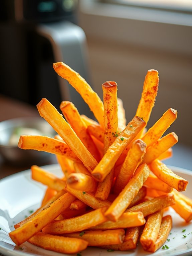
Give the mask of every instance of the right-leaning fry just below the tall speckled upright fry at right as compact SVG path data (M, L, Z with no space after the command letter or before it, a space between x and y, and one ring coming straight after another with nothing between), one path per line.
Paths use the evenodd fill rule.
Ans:
M147 147L154 144L177 118L177 110L168 109L163 116L141 138Z

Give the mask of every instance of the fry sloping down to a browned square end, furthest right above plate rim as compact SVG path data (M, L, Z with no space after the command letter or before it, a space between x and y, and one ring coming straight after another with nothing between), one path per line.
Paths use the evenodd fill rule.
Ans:
M170 168L158 159L154 160L150 164L152 172L170 187L175 188L177 191L184 191L188 184L188 181L184 178L176 175Z

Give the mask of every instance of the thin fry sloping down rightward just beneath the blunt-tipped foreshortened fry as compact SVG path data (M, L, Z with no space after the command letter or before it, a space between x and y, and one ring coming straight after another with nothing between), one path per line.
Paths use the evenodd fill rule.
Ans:
M93 193L91 192L85 193L85 191L73 189L68 185L66 185L65 190L93 209L98 209L105 206L109 207L111 205L111 203L107 200L102 201L100 199L95 198Z

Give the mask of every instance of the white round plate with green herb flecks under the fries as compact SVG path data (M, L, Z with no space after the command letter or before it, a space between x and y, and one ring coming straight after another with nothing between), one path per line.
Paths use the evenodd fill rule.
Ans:
M44 168L58 176L62 175L57 164L44 166ZM171 169L189 181L189 185L184 194L191 197L192 172L177 167L171 167ZM45 188L44 185L31 179L30 170L19 172L0 180L0 252L4 255L64 255L44 250L28 242L23 243L19 247L15 246L8 235L8 233L14 229L14 223L23 220L25 216L30 215L31 210L35 210L39 207ZM163 250L160 248L157 252L153 253L153 256L192 255L192 222L186 224L172 209L166 212L166 215L167 214L170 214L173 218L173 228L169 235L170 241L165 243L169 249ZM186 229L184 233L182 232L183 229ZM187 237L184 238L183 235ZM87 248L81 253L82 256L144 256L150 254L151 253L145 252L140 245L136 250L127 252L108 252L105 249Z

